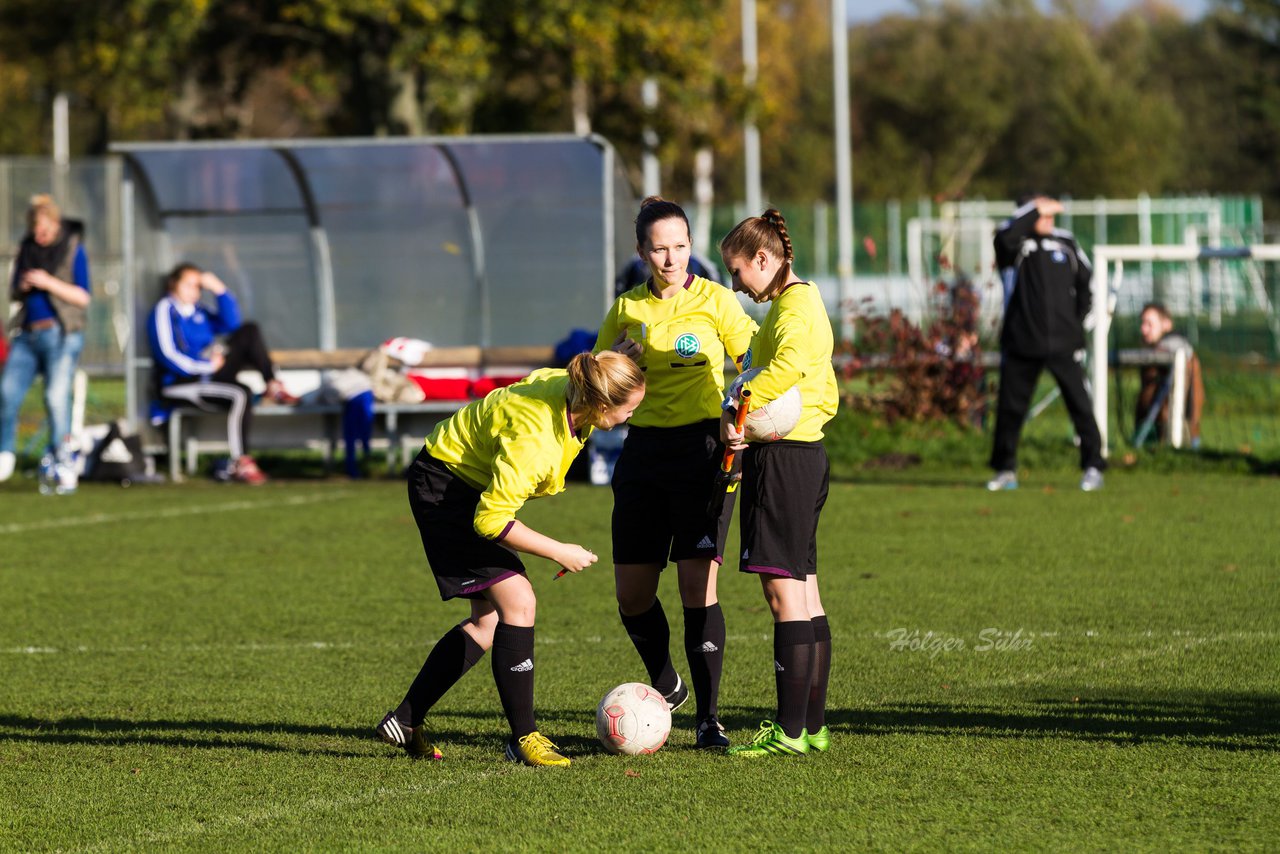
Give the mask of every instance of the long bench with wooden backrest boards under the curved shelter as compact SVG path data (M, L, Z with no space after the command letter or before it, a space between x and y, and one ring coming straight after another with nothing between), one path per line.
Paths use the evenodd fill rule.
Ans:
M358 365L367 353L369 348L278 350L271 351L271 361L280 371L315 371L319 379L321 371ZM415 370L463 367L477 375L498 371L524 375L549 365L553 356L552 347L444 347L428 351ZM472 399L374 403L371 447L385 447L387 470L394 472L416 456L417 448L439 421ZM257 403L250 435L253 449L315 449L329 467L342 444L342 411L339 403ZM169 415L166 437L169 476L178 481L184 474L196 474L200 455L227 453L227 414L175 407Z

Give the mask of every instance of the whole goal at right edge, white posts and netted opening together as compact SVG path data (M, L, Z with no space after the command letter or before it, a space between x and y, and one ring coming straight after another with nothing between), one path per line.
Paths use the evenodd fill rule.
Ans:
M1148 440L1158 414L1152 403L1160 410L1166 399L1167 416L1155 434L1175 447L1192 444L1185 403L1199 373L1204 393L1198 447L1280 457L1275 406L1280 396L1280 269L1275 261L1280 261L1280 245L1094 247L1096 320L1088 355L1105 453L1129 452ZM1155 351L1144 344L1140 316L1152 302L1169 311L1185 346ZM1156 392L1155 401L1151 392Z

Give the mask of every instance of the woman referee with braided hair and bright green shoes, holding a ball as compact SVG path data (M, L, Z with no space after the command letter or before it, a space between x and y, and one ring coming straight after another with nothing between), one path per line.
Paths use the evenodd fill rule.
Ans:
M818 597L818 517L831 466L822 428L840 399L831 366L831 319L818 286L796 278L787 223L776 210L739 223L721 242L735 291L769 302L744 369L762 369L744 387L750 406L764 406L799 387L800 421L785 439L746 446L732 412L722 416L724 440L742 456L742 558L760 576L773 612L773 670L778 713L733 755L800 755L826 750L831 627Z

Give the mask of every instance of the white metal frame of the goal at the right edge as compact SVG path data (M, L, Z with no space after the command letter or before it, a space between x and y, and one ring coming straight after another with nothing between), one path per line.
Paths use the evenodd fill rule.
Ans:
M1107 341L1111 332L1112 314L1116 309L1116 298L1124 282L1124 265L1126 261L1148 264L1152 261L1184 262L1193 268L1190 280L1198 280L1198 265L1201 261L1221 260L1254 260L1254 261L1280 261L1280 245L1236 246L1236 247L1202 247L1194 245L1171 246L1096 246L1093 248L1094 275L1093 275L1093 310L1094 324L1092 339L1089 341L1089 371L1093 385L1093 416L1098 423L1098 431L1102 434L1102 456L1108 456L1108 394L1107 370L1108 350ZM1215 277L1210 277L1211 282ZM1211 288L1212 291L1212 288ZM1220 305L1221 293L1213 291L1211 302ZM1265 291L1262 292L1266 300ZM1276 328L1276 312L1272 306L1262 305L1271 319L1274 334L1280 334ZM1171 399L1179 405L1170 406L1170 442L1174 447L1183 443L1183 415L1181 401L1187 399L1187 362L1190 356L1189 348L1180 348L1174 353L1149 355L1143 359L1132 359L1123 364L1170 364L1172 365Z

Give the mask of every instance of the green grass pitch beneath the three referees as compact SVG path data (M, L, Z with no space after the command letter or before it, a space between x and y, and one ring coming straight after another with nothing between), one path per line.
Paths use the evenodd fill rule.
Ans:
M822 755L703 755L687 709L657 755L604 754L595 702L643 679L611 572L553 583L530 560L563 771L500 761L488 662L430 718L444 763L372 740L465 612L438 599L402 484L10 481L0 849L1274 848L1280 481L1115 471L1082 494L1033 470L992 495L977 470L878 476L836 483L823 520ZM522 517L607 554L607 495L575 484ZM740 741L773 709L771 625L753 579L723 572L721 595ZM1023 648L979 649L984 630Z

